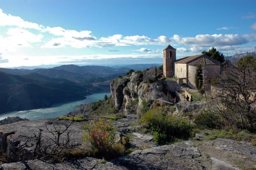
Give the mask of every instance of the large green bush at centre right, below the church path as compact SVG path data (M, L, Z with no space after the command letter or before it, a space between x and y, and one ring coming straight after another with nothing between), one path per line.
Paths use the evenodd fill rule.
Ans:
M189 120L169 115L161 107L148 110L141 117L141 122L154 132L154 140L160 145L188 139L192 135L193 125Z

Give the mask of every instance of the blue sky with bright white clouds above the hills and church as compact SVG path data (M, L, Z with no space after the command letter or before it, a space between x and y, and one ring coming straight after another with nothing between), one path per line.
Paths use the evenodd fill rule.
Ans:
M161 63L256 46L256 0L0 0L0 67Z

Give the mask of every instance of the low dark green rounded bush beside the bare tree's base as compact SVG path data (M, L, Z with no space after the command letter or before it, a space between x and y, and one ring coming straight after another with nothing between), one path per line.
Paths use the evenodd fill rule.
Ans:
M200 129L219 129L222 127L221 117L210 112L202 112L195 116L194 123Z

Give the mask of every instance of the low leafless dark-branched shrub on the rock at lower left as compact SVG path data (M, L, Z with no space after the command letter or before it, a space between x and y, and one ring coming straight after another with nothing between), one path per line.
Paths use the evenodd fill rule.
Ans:
M18 139L10 148L14 156L22 160L28 159L44 159L48 161L62 161L65 151L75 149L77 144L70 137L68 128L74 121L74 116L71 122L64 127L58 123L49 128L45 124L47 131L51 136L46 138L43 135L43 130L38 129L31 136L18 136ZM8 158L10 159L10 158ZM13 161L13 160L9 160Z

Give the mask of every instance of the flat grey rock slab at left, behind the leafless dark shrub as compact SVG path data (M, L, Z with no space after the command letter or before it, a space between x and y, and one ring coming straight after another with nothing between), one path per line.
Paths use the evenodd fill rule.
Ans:
M16 147L17 142L24 143L28 137L38 134L39 129L42 130L42 139L44 142L49 142L50 138L53 138L52 134L46 129L46 126L49 130L53 130L55 127L65 129L65 126L68 125L70 121L66 120L56 120L56 119L39 119L32 121L20 121L12 124L6 124L0 126L0 153L7 154L10 158L17 160L17 156L12 153L14 147ZM70 133L70 139L74 141L78 148L82 148L82 135L83 129L82 126L86 122L73 122L67 132ZM32 148L25 148L31 150ZM29 158L26 158L27 160Z

